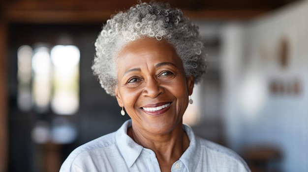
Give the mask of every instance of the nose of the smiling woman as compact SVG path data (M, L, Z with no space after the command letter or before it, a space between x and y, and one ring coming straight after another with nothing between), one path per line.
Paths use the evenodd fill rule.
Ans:
M153 77L148 78L145 88L143 90L143 96L148 96L151 98L156 98L158 95L164 92L164 88L161 86L159 81L155 80Z

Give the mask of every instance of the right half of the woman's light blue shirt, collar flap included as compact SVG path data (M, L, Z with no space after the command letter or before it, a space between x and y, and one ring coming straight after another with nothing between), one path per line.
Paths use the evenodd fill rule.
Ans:
M196 136L187 125L184 125L184 130L190 140L185 161L195 166L197 171L250 172L246 162L235 151Z

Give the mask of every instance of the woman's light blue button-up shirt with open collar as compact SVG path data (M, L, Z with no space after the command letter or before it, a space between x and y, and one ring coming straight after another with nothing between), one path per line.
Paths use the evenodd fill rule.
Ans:
M128 135L131 120L113 133L99 137L73 150L60 172L160 172L153 150L135 143ZM234 151L194 135L183 125L189 147L171 172L250 172Z

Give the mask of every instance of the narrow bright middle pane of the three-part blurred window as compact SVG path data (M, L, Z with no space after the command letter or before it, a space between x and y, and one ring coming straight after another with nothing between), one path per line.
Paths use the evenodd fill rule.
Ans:
M51 60L49 49L39 47L34 49L32 58L33 82L32 97L39 113L47 112L51 97Z

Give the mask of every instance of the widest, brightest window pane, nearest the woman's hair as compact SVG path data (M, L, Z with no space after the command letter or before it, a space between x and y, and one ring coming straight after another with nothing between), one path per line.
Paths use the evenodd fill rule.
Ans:
M54 64L54 95L51 108L59 115L72 115L79 108L79 60L75 46L55 46L51 50Z

